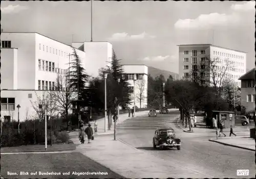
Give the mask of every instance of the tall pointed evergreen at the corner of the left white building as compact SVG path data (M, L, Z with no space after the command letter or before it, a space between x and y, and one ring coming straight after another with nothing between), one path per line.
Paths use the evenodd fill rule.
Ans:
M73 60L69 63L70 67L67 73L67 80L70 88L79 92L79 99L81 98L81 92L86 86L86 82L89 75L86 74L85 69L82 67L80 57L76 53L76 49L73 48Z

